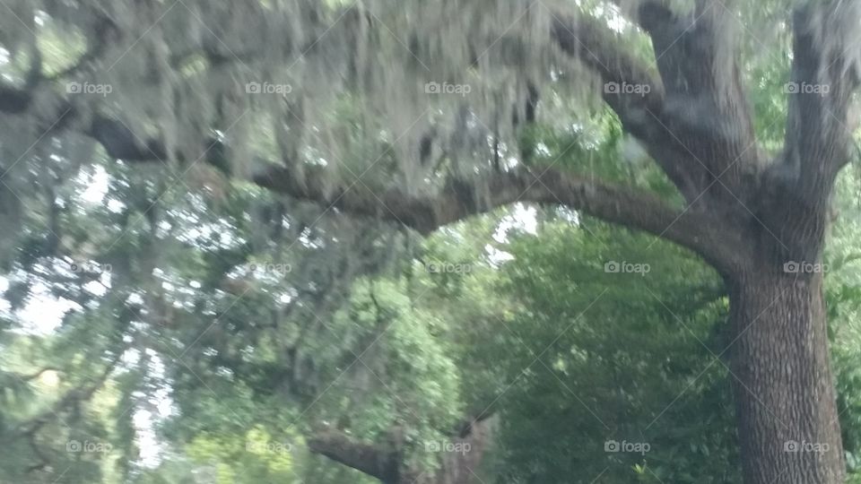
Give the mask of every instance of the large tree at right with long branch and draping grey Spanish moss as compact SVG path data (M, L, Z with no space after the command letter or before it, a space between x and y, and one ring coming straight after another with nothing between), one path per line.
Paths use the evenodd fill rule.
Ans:
M779 24L792 37L779 149L759 143L770 140L758 140L761 120L745 95L762 78L731 26L737 13L761 19L749 6L13 2L2 39L13 61L0 87L0 112L13 126L4 133L12 161L4 163L11 176L3 220L20 224L16 194L33 177L31 149L86 163L89 152L76 150L87 145L83 135L123 163L190 168L205 159L222 172L251 172L275 192L422 234L515 202L563 205L643 230L700 255L726 284L745 481L840 482L820 264L835 177L855 129L858 5L793 5L791 21ZM180 12L169 14L174 7ZM611 28L620 15L636 27ZM196 22L203 27L187 29ZM80 57L52 58L46 30ZM64 38L64 30L72 33ZM779 39L772 48L782 54ZM640 54L644 42L650 56ZM300 73L287 73L297 63ZM443 93L457 76L473 75L480 89L463 100L439 96L439 106L413 117L409 107L428 104L416 102L414 88L439 89L429 74L444 81ZM296 85L265 81L283 75ZM551 110L546 99L578 82L571 99L603 86L605 105L681 203L533 164L541 146L518 134L535 123L537 108ZM288 91L292 97L258 102L258 94ZM311 115L312 107L323 114ZM422 134L402 140L414 118ZM272 128L260 133L256 123ZM320 153L316 133L336 141L334 153ZM250 154L249 146L263 148ZM365 153L377 149L383 154L369 163ZM272 157L279 161L259 160ZM792 442L829 451L787 452Z

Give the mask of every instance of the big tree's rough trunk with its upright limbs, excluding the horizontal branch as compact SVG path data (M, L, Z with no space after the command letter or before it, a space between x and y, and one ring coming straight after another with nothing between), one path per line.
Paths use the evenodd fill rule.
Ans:
M608 100L686 196L686 210L710 213L720 231L741 239L731 259L714 265L730 294L735 339L727 349L748 483L845 480L818 265L834 179L848 162L848 102L857 88L844 57L848 46L822 39L839 14L834 4L794 14L789 81L827 86L829 94L790 91L786 142L776 160L756 150L738 62L727 50L733 44L722 29L732 22L723 5L698 2L684 17L660 2L641 3L638 20L652 39L663 85L654 91L663 99ZM613 56L596 55L562 22L557 36L570 51L586 50L605 80L658 82L635 78L645 70L628 61L614 61L622 68L613 69L606 64Z

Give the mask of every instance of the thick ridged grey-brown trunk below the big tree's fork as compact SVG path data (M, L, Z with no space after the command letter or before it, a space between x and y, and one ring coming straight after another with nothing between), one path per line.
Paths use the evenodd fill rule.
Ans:
M730 286L744 482L842 483L822 272L754 264Z

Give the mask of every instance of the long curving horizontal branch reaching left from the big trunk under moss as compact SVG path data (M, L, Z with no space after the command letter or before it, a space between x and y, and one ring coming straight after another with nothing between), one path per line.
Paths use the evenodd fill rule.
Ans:
M610 186L548 169L535 176L526 171L496 172L475 183L451 181L434 196L406 194L398 188L373 193L366 186L328 186L314 173L304 183L290 170L269 169L254 177L291 197L403 223L422 234L490 212L512 203L561 205L630 229L639 229L690 248L718 269L732 266L741 242L728 240L717 220L701 212L679 212L652 194L634 187ZM358 186L357 186L358 185Z

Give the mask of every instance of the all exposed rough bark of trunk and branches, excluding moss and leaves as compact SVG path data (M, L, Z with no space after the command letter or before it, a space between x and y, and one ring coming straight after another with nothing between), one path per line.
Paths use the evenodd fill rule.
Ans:
M848 104L858 78L846 55L857 46L848 45L845 32L832 28L841 15L851 13L840 10L849 4L811 2L794 13L787 81L827 85L829 92L796 90L787 96L785 146L774 159L761 154L753 133L738 49L732 31L726 30L736 22L731 2L697 0L691 13L678 14L663 0L640 0L631 20L651 39L657 73L631 56L630 48L618 45L603 21L557 13L548 35L563 50L604 82L651 87L646 95L605 91L603 97L683 194L682 208L631 187L552 169L497 170L479 182L490 188L489 200L464 180L452 180L437 196L423 198L396 188L378 193L351 185L324 190L313 171L301 181L291 177L295 160L284 160L255 181L422 233L509 203L558 204L691 249L722 274L730 294L735 338L727 350L745 482L837 484L844 480L845 464L822 273L815 268L834 180L848 162L849 133L856 127L848 120ZM33 75L20 89L0 85L0 111L28 111L32 91L46 82ZM46 117L46 128L57 132L75 125L78 113L72 104L61 106L57 114ZM123 123L109 117L93 118L83 132L109 156L126 162L166 158L159 140L138 143ZM786 264L796 265L787 270ZM381 480L402 481L397 452L383 455L381 449L357 446L345 436L318 436L312 445ZM392 469L397 476L390 474Z

